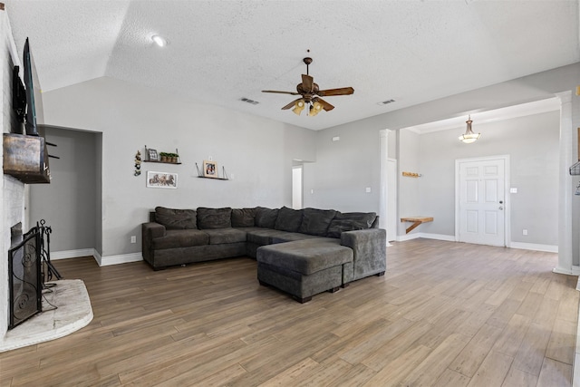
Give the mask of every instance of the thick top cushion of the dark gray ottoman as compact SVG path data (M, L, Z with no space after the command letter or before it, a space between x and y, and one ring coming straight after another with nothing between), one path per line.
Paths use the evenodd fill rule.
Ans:
M284 267L307 276L353 262L353 249L341 246L335 239L305 239L259 247L256 260L258 264Z

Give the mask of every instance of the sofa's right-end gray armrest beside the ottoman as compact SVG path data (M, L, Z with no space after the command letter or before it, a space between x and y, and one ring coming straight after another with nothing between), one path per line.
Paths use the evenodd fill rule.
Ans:
M382 228L343 231L341 245L353 249L353 279L382 274L387 269L387 232Z

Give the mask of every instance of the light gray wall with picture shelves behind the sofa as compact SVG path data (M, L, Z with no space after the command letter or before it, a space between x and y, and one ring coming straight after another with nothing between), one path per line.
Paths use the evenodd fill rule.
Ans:
M315 160L314 131L107 77L45 92L43 102L47 123L102 133L103 257L140 253L140 224L156 206L291 206L292 160ZM134 177L145 145L179 149L182 165L143 163ZM234 179L198 179L195 164L209 156ZM179 188L147 189L148 170L177 173Z

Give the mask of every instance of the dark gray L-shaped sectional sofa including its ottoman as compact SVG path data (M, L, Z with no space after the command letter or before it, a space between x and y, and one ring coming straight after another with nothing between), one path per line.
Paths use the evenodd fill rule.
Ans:
M158 207L141 229L143 259L154 270L251 256L260 284L303 303L386 270L386 232L372 212Z

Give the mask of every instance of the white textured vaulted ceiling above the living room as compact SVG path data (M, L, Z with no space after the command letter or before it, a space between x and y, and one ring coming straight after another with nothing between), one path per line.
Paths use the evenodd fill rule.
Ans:
M44 92L109 76L313 130L580 62L577 0L5 5L19 53L30 37ZM281 111L295 97L261 91L294 92L304 56L321 89L354 94L325 97L336 108L316 117Z

